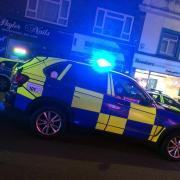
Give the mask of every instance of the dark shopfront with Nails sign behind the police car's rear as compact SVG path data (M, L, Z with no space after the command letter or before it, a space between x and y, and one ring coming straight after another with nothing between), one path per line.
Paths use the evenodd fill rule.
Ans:
M44 55L63 57L71 50L73 37L57 28L44 24L0 17L0 56L19 58L15 48L27 56Z

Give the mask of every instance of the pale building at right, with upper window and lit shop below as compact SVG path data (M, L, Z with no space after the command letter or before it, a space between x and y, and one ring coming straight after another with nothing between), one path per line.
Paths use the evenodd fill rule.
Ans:
M142 86L180 96L180 0L144 0L146 13L137 53L135 78Z

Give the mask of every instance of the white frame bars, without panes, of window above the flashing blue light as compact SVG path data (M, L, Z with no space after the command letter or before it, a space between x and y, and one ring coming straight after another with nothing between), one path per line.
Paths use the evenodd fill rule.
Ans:
M104 18L103 18L102 26L96 25L97 22L98 22L98 13L99 13L99 11L104 11ZM108 15L108 13L116 14L117 16L118 15L119 16L124 16L124 18L121 19L121 18L118 18L118 17L115 17L115 16L113 17L113 16ZM124 27L125 27L126 18L131 18L132 23L131 23L131 27L130 27L129 33L126 33L126 32L122 31L121 34L120 34L120 37L104 34L103 30L105 29L104 25L105 25L105 20L106 20L107 17L123 21L123 30L124 30ZM128 15L128 14L124 14L124 13L118 13L116 11L112 11L112 10L109 10L109 9L104 9L104 8L98 7L97 10L96 10L96 16L95 16L95 22L94 22L94 27L93 27L93 33L101 35L101 36L104 36L104 37L108 37L108 38L113 38L113 39L118 39L118 40L123 40L123 41L129 41L130 40L130 36L131 36L131 32L132 32L132 28L133 28L133 24L134 24L134 16L131 16L131 15ZM95 28L101 28L102 32L101 33L96 32ZM123 38L122 34L129 35L129 38L128 39Z

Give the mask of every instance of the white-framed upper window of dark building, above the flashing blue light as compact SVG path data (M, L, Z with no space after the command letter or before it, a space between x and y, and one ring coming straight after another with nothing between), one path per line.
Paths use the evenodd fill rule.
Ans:
M133 16L98 8L93 32L106 37L129 41L133 21Z

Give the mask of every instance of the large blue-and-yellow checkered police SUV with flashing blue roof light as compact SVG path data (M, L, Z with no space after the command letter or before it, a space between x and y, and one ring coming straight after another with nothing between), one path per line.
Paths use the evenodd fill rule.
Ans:
M158 105L111 66L105 59L90 66L34 58L18 69L6 102L27 115L39 136L62 135L77 125L156 143L165 157L180 160L179 113Z

